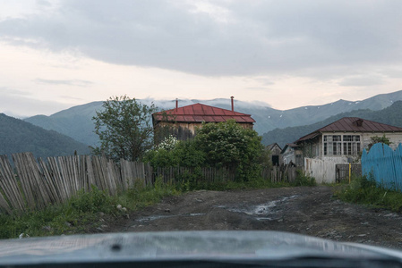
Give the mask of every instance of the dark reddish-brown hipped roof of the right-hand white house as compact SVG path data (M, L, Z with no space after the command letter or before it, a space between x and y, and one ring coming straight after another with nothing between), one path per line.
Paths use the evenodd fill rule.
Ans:
M299 138L295 143L320 136L323 132L402 132L402 128L358 117L344 117Z

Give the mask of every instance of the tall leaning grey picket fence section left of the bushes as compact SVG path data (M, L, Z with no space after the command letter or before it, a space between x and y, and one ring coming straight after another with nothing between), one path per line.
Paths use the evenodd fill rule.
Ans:
M105 156L72 155L35 159L31 153L0 155L0 210L27 211L61 204L90 191L93 186L110 195L133 188L135 180L152 183L149 164L122 160L117 165Z

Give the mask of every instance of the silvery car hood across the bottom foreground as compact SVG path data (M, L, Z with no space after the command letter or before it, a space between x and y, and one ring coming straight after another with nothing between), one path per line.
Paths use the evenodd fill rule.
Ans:
M164 262L389 261L399 251L278 231L162 231L0 241L0 265ZM272 263L273 262L273 263Z

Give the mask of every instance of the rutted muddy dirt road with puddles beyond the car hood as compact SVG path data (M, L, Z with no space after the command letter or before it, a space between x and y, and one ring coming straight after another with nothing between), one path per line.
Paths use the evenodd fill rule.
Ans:
M107 231L281 230L402 249L402 214L343 203L327 186L194 191L130 214Z

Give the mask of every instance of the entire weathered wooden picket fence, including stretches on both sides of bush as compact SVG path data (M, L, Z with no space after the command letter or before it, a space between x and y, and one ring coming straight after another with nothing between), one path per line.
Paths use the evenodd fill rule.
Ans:
M287 165L261 172L263 180L292 183L297 168ZM137 180L150 186L161 177L164 182L178 183L191 179L195 183L234 181L235 172L214 168L157 168L150 164L114 163L105 156L72 155L35 159L31 153L13 154L13 165L0 155L0 210L11 214L43 209L61 204L79 191L89 192L92 185L113 196L133 188Z

